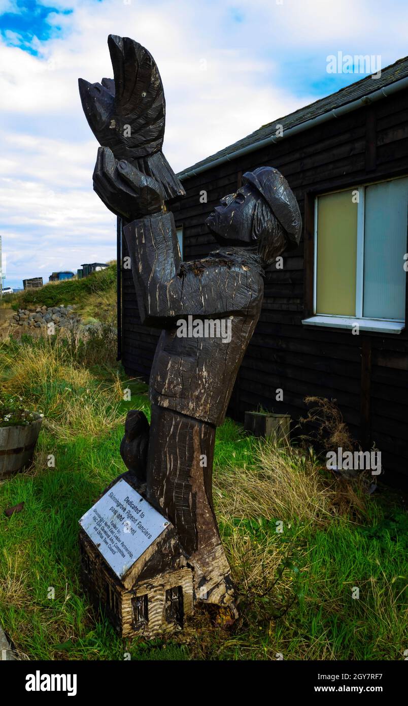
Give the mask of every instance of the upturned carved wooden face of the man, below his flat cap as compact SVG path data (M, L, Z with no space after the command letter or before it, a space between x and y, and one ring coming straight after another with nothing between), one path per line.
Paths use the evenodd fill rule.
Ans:
M253 210L260 195L251 184L240 186L236 193L224 196L210 213L205 224L218 241L231 244L251 243Z

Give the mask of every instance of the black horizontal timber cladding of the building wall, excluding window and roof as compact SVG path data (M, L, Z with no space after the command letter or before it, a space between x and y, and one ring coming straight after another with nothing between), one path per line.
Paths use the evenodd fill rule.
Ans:
M305 327L313 311L313 213L316 193L347 189L408 174L408 91L333 119L280 143L231 160L184 181L186 197L174 204L184 229L184 258L207 255L217 244L205 217L232 193L242 175L265 165L289 181L304 219L299 247L284 256L284 268L268 268L263 311L236 380L228 414L244 420L263 405L290 414L292 433L306 412L304 397L337 400L344 421L364 443L382 452L384 480L408 483L408 335ZM200 192L207 203L200 203ZM126 244L124 244L124 250ZM124 252L126 255L126 252ZM148 377L159 332L140 325L131 273L123 276L123 363ZM407 311L407 309L406 309ZM276 390L283 400L276 400Z

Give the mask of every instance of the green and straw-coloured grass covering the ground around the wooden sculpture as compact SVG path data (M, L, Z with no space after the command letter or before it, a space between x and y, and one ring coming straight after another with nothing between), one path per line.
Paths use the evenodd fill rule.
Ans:
M334 481L312 450L260 442L229 419L214 498L240 617L228 627L198 611L181 635L122 642L78 582L78 519L124 471L124 417L149 416L148 395L114 366L82 361L63 340L0 347L2 397L44 413L35 465L0 484L0 621L21 657L404 659L407 515L388 491Z

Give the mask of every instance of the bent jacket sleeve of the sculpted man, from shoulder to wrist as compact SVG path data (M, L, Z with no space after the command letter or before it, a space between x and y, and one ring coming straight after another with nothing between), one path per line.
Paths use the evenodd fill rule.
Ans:
M124 233L142 323L166 328L189 315L248 316L258 304L261 277L238 262L220 256L181 263L172 213L135 220Z

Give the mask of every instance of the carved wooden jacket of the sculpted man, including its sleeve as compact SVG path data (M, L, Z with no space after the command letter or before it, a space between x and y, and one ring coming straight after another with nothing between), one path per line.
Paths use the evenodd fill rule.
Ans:
M163 329L150 373L151 402L222 424L260 315L260 258L226 248L200 261L181 262L172 213L134 220L124 234L141 321ZM220 323L224 334L229 330L229 342L229 335L191 335L199 329L191 323L222 319L227 320ZM183 336L181 323L187 320L190 335ZM208 331L218 333L211 327Z

